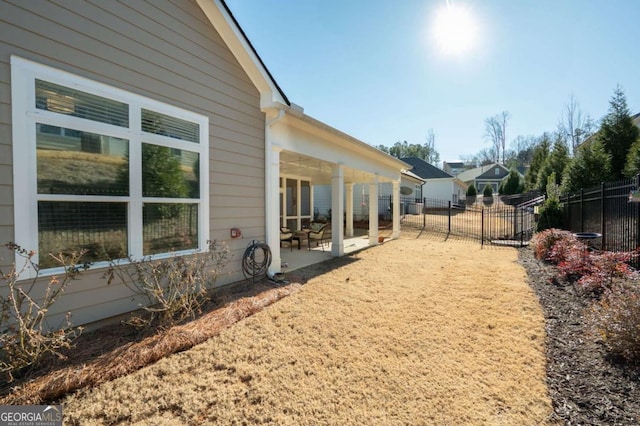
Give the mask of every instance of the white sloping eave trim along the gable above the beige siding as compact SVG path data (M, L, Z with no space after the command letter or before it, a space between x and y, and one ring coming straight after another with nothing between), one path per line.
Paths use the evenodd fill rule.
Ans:
M277 85L260 62L233 18L220 0L196 0L211 25L218 31L231 53L260 92L260 108L268 108L274 102L286 104Z

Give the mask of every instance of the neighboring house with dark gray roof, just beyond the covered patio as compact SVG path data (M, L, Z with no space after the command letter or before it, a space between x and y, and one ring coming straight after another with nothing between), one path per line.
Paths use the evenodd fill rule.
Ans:
M424 198L454 203L464 199L467 186L460 179L418 157L406 157L401 160L412 165L411 172L425 181Z

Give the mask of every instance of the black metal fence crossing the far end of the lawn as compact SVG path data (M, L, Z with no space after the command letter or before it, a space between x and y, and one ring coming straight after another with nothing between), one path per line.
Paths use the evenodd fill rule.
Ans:
M392 197L378 201L382 220L390 220ZM533 204L506 204L499 197L474 203L453 203L436 199L400 198L400 217L403 227L420 228L478 239L481 243L526 244L534 229Z

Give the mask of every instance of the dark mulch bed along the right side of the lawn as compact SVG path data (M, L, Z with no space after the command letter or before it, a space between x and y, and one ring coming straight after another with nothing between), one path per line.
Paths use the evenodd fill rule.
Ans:
M520 263L543 307L547 332L547 384L553 420L567 425L640 424L640 366L607 355L589 335L583 312L589 299L558 281L555 267L529 248Z

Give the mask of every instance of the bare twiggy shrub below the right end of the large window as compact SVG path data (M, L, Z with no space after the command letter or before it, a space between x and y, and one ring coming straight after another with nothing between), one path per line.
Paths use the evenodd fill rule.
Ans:
M147 301L140 307L149 315L143 318L134 314L131 324L144 327L157 319L161 326L171 326L201 313L229 256L225 245L208 243L207 252L188 256L173 254L163 260L129 258L128 264L111 262L105 274L108 283L117 278Z

